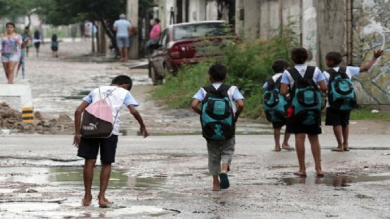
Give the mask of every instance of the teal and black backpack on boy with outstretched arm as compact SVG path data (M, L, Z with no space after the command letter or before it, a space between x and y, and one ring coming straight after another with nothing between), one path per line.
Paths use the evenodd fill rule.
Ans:
M329 74L328 100L331 108L336 110L353 110L356 107L356 93L347 68L340 67L338 72L334 69L326 70Z

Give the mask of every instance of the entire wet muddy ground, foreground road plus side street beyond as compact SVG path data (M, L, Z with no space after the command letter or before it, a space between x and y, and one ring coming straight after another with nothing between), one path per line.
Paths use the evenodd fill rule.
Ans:
M320 142L326 176L314 176L307 146L304 179L292 174L295 152L272 152L273 136L264 135L272 131L269 124L239 120L238 133L247 135L237 136L231 188L212 192L198 116L158 106L150 98L155 87L145 69L130 69L134 61L87 56L89 43L60 44L60 58L51 57L49 45L38 58L32 50L27 77L16 83L31 84L35 110L43 117L73 117L88 91L118 74L130 75L152 136L138 137L134 118L121 116L124 136L107 192L114 201L109 209L98 208L99 165L92 206L81 207L83 160L71 146L72 128L64 135L0 136L0 218L389 218L389 123L351 121L351 151L343 153L330 151L336 143L331 128L324 127Z

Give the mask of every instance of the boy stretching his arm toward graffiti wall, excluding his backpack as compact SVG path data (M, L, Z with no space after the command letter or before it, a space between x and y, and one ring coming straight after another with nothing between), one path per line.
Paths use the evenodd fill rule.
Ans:
M347 66L345 70L343 70L349 79L352 79L353 77L359 75L359 73L368 71L375 63L376 59L378 59L381 55L383 55L383 50L378 50L377 52L374 52L371 61L366 65L361 67ZM343 61L343 58L340 53L330 52L325 56L325 61L326 65L337 73L340 71L339 65ZM331 74L329 72L330 70L324 71L328 84L331 78ZM333 133L337 140L337 147L332 148L331 151L350 151L348 145L350 112L350 110L333 109L331 108L329 101L327 103L325 125L333 126Z

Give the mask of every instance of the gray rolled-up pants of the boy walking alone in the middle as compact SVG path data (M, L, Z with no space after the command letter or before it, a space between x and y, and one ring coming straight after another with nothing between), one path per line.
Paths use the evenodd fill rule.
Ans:
M235 138L224 141L207 142L207 152L209 153L209 170L212 175L221 173L222 164L230 164L233 159Z

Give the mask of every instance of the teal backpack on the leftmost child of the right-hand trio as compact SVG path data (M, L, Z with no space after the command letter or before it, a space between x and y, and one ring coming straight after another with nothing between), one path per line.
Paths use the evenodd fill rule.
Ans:
M284 122L287 118L287 109L289 102L286 96L280 94L280 81L282 76L276 81L269 79L268 87L263 94L263 110L268 121Z

